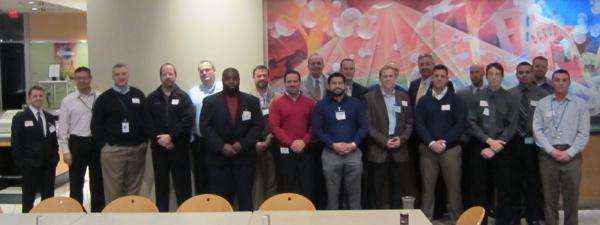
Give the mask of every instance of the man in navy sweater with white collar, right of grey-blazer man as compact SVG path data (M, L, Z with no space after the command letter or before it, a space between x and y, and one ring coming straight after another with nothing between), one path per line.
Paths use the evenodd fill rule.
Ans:
M419 144L422 186L421 209L431 220L435 202L435 185L440 170L446 183L450 218L462 212L461 156L459 138L466 129L467 108L463 100L450 90L448 68L433 68L432 91L423 96L416 108L415 125L422 140Z

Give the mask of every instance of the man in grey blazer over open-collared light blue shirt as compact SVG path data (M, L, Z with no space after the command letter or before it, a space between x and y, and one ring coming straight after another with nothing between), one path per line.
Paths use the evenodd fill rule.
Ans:
M409 157L408 139L413 126L409 96L394 90L398 69L379 70L380 87L365 95L369 122L368 177L372 208L384 207L383 192L390 179L390 207L401 208L402 196L417 196L415 166Z

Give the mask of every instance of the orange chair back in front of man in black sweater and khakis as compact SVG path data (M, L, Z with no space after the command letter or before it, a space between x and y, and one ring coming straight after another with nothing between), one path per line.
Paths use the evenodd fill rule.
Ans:
M144 213L158 212L152 200L139 195L128 195L117 198L108 203L102 210L103 213Z

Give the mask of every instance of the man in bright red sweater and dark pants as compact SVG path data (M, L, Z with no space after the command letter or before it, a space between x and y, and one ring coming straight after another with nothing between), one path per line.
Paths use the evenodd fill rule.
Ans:
M312 138L311 114L315 102L300 92L300 73L283 77L285 94L269 109L269 128L275 137L273 152L278 192L312 197L315 157L308 146Z

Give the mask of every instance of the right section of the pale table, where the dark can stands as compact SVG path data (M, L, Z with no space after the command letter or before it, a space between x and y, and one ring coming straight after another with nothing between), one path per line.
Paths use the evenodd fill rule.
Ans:
M255 211L250 225L399 225L400 212L408 212L410 225L431 225L418 209Z

